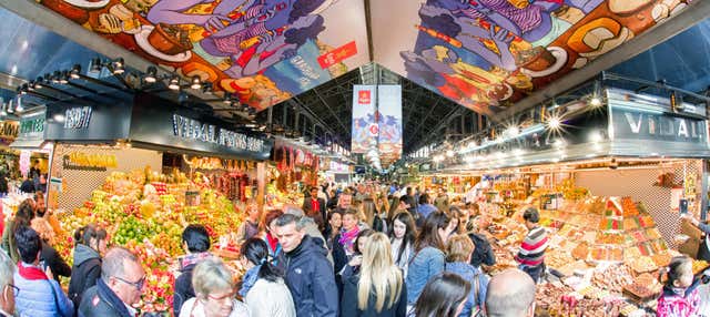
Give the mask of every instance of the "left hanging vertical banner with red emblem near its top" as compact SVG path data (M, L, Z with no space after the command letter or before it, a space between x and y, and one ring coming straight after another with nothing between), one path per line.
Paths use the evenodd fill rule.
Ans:
M351 153L366 153L377 149L379 127L375 116L375 86L353 86L353 143Z

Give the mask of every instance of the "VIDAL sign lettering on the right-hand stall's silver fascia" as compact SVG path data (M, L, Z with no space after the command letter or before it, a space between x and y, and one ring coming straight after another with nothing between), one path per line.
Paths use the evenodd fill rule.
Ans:
M704 120L613 109L618 139L699 142L707 140Z

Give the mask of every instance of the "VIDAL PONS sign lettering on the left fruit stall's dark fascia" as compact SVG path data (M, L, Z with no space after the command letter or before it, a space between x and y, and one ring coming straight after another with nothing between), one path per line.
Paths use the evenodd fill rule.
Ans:
M263 140L216 127L213 124L202 123L179 114L173 114L173 133L178 137L214 143L243 151L257 153L264 151Z

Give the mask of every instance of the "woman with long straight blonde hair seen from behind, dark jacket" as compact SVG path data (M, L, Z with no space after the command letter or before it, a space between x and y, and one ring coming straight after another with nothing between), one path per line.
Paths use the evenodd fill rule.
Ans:
M342 317L406 315L404 275L394 264L389 239L383 233L373 234L365 244L358 274L352 266L345 267L343 283Z

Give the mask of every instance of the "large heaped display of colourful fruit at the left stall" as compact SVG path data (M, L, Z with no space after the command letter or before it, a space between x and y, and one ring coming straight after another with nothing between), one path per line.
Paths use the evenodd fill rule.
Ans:
M199 196L190 200L186 194L196 190ZM112 172L80 207L58 213L62 232L55 247L71 264L71 233L89 223L106 228L110 244L128 247L145 266L141 313L170 314L173 282L184 254L183 228L203 224L214 243L213 252L233 254L236 245L231 242L231 233L240 226L243 215L227 196L200 177L189 178L178 171L156 174L150 168ZM241 276L240 263L234 258L225 260Z

